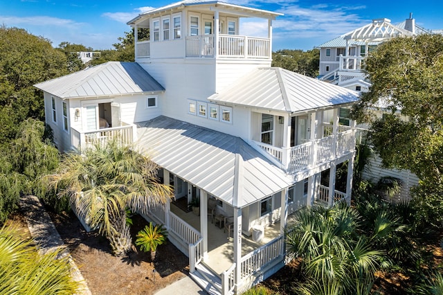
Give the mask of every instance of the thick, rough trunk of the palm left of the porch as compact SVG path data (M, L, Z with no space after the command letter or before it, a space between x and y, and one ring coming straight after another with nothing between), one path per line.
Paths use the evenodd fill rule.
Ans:
M113 218L111 224L116 230L107 236L111 251L115 256L125 256L132 249L130 227L126 224L126 212L120 212L120 216Z

